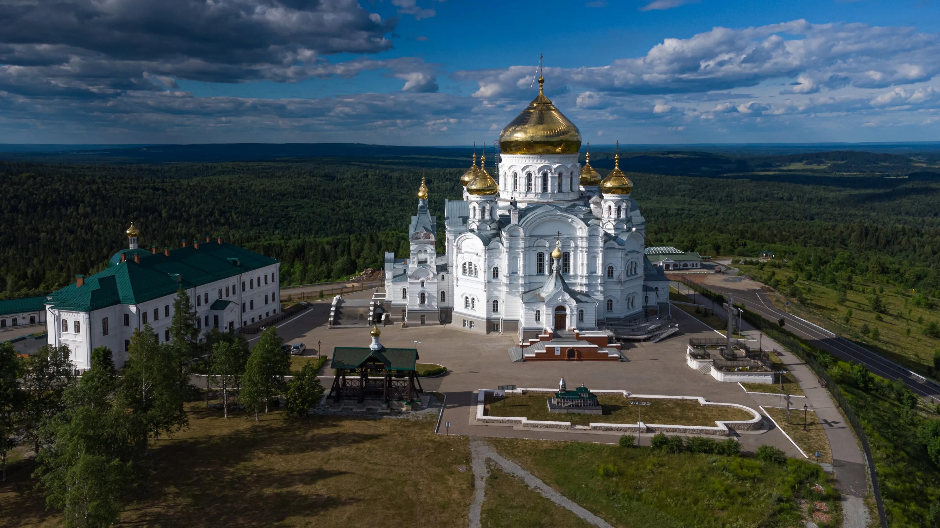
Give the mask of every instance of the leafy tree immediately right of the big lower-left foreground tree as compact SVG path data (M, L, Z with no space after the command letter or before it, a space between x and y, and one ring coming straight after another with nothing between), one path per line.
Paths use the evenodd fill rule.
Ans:
M189 423L183 410L187 379L178 357L160 344L149 324L134 330L121 377L121 393L133 413L142 416L154 439Z

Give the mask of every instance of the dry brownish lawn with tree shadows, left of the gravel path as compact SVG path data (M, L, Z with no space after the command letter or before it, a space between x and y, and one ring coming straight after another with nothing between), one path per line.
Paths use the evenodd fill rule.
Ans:
M152 447L147 490L116 526L460 526L473 494L464 437L421 419L280 412L225 419L188 404L190 427ZM0 485L0 526L59 526L20 463Z

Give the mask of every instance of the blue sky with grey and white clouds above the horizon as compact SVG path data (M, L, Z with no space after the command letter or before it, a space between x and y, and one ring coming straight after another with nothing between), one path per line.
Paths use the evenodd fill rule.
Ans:
M0 143L940 140L927 0L8 0Z

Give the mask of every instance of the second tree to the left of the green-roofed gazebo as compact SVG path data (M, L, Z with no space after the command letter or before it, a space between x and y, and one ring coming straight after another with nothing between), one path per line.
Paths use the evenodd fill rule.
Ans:
M268 412L268 402L284 390L284 376L290 372L290 355L281 351L282 342L274 326L269 326L261 332L245 364L239 400L248 411L255 413L255 420L261 409Z

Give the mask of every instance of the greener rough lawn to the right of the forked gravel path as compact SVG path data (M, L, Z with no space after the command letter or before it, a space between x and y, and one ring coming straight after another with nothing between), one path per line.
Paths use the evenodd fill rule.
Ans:
M803 526L807 519L800 505L803 498L822 500L830 511L838 511L826 475L803 460L778 465L580 442L503 438L489 442L615 526ZM828 492L814 495L810 488L816 482ZM840 516L834 513L833 518Z

